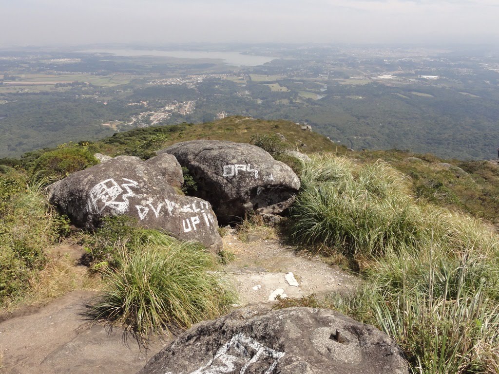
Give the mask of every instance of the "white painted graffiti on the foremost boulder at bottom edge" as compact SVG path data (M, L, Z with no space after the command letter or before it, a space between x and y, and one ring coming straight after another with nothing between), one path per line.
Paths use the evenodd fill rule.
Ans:
M263 372L264 369L262 369L262 374L271 374L284 355L284 352L265 347L256 340L239 333L224 344L206 365L189 374L232 374L236 373L238 364L244 364L239 374L245 374L252 364L264 366L266 370Z

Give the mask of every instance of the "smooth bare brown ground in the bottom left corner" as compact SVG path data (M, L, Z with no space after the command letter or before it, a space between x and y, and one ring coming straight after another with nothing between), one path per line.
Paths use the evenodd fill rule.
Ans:
M124 341L121 329L90 327L81 313L95 296L74 291L38 311L0 324L0 373L88 374L136 373L163 347L149 351L133 339Z

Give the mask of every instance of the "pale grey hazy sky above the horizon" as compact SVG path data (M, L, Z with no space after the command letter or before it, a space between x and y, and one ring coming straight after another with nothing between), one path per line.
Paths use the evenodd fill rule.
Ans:
M0 0L0 45L499 41L499 0Z

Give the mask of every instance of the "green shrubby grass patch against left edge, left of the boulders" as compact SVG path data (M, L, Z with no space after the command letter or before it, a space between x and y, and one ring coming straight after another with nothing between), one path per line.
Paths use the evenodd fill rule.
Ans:
M15 171L0 173L0 309L30 292L47 263L44 250L67 232L42 185Z

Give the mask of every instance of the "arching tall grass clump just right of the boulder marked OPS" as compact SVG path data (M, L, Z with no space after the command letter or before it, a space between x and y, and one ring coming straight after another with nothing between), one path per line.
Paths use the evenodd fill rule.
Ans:
M300 178L291 236L339 251L359 265L388 253L419 252L430 242L446 253L463 251L470 243L486 252L498 250L482 222L419 203L407 177L384 162L356 165L346 158L316 156Z

